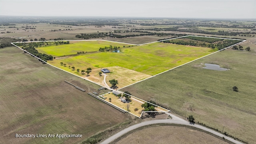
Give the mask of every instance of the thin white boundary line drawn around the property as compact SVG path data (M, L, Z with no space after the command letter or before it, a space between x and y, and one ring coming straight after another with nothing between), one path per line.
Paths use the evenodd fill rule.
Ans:
M188 36L193 36L193 35L188 35ZM187 37L187 36L181 36L181 37L177 37L177 38L184 38L184 37ZM216 38L216 37L209 37L209 36L196 36L196 37L205 37L205 38ZM166 40L172 40L172 39L177 39L177 38L170 38L170 39L166 39ZM239 39L231 39L231 38L219 38L219 39L227 39L227 40L239 40ZM62 42L62 41L105 41L105 42L113 42L113 41L109 41L109 40L50 40L50 41L27 41L27 42ZM162 42L162 41L165 41L165 40L160 40L160 41L155 41L155 42ZM245 42L246 40L242 40L242 42ZM17 44L17 43L27 43L27 42L12 42L11 44L12 45L14 45L14 46L16 46L15 44ZM155 42L148 42L148 43L145 43L145 44L152 44L152 43L155 43ZM240 44L240 43L242 43L242 42L238 42L237 44ZM120 44L128 44L128 43L124 43L124 42L115 42L115 43L120 43ZM135 45L135 46L142 46L142 45L145 45L145 44L130 44L130 45ZM233 44L232 46L235 46L235 45L237 45L237 44ZM232 46L228 46L228 47L226 47L226 48L224 48L224 49L222 49L222 50L225 50L225 49L227 49L227 48L230 48L230 47L232 47ZM18 47L18 48L20 48L19 46L16 46L16 47ZM24 49L22 49L22 48L20 48L21 50L23 50L24 52L27 52L26 50L24 50ZM218 51L216 51L216 52L219 52L219 51L222 51L222 50L218 50ZM214 53L216 53L216 52L213 52L213 53L211 53L211 54L214 54ZM31 54L31 53L29 53L29 52L27 52L28 54L30 54L30 55L32 55L32 56L34 56L33 54ZM206 56L209 56L209 55L211 55L211 54L208 54L208 55L206 55ZM206 57L206 56L203 56L203 57L201 57L201 58L204 58L204 57ZM35 58L38 58L38 57L36 57L36 56L34 56ZM195 59L195 60L192 60L192 61L190 61L190 62L194 62L194 61L196 61L196 60L199 60L199 59L201 59L201 58L197 58L197 59ZM42 62L45 62L44 60L42 60L42 59L40 59L40 58L38 58L39 60L41 60ZM190 63L190 62L187 62L187 63L185 63L185 64L188 64L188 63ZM49 63L47 63L47 62L45 62L46 64L49 64ZM180 66L183 66L183 65L185 65L185 64L182 64L182 65L180 65ZM49 64L50 66L53 66L53 65L51 65L51 64ZM180 67L180 66L176 66L175 68L178 68L178 67ZM54 68L58 68L58 67L56 67L56 66L53 66ZM58 68L59 70L62 70L61 68ZM174 68L171 68L170 70L173 70ZM166 71L164 71L164 72L168 72L168 71L170 71L170 70L166 70ZM66 71L66 70L62 70L62 71L64 71L64 72L68 72L68 71ZM159 74L162 74L162 73L164 73L164 72L161 72L161 73L159 73ZM69 74L72 74L71 72L68 72ZM157 76L157 75L159 75L159 74L156 74L156 75L154 75L154 76L151 76L151 77L149 77L149 78L152 78L152 77L155 77L155 76ZM73 74L74 76L77 76L76 74ZM80 76L78 76L79 78L82 78L82 77L80 77ZM147 80L147 79L149 79L149 78L145 78L144 80ZM85 78L82 78L82 79L84 79L84 80L87 80L87 79L85 79ZM140 81L138 81L138 82L142 82L142 81L144 81L144 80L140 80ZM87 80L87 81L89 81L89 82L92 82L92 83L94 83L94 84L97 84L97 83L95 83L95 82L93 82L93 81L91 81L91 80ZM135 83L133 83L133 84L136 84L136 83L138 83L138 82L135 82ZM130 84L130 85L128 85L128 86L131 86L131 85L133 85L133 84ZM99 85L99 86L102 86L102 85L100 85L100 84L97 84L97 85ZM124 86L124 87L122 87L122 88L126 88L126 87L128 87L128 86ZM104 87L104 88L106 88L105 86L102 86L102 87ZM122 89L122 88L120 88L120 89ZM113 92L113 90L112 89L110 89L110 88L107 88L108 90L111 90L112 92ZM116 90L116 91L118 91L118 92L121 92L120 91L120 89L118 89L118 90ZM122 94L124 94L124 92L121 92ZM108 93L106 93L106 94L108 94ZM104 95L104 94L102 94L102 95ZM100 96L102 96L102 95L100 95ZM129 95L129 94L128 94ZM129 96L131 96L131 95L129 95ZM132 97L134 97L134 98L136 98L136 99L139 99L139 100L142 100L142 99L140 99L140 98L137 98L137 97L135 97L135 96L132 96ZM142 101L144 101L144 102L147 102L147 101L145 101L145 100L142 100ZM106 102L108 102L108 101L106 101ZM109 103L109 102L108 102ZM150 103L150 102L148 102L148 103ZM112 103L111 103L112 104ZM152 104L152 103L150 103L150 104ZM113 104L114 105L114 104ZM157 106L157 105L155 105L155 104L153 104L154 106ZM116 106L116 105L114 105L114 106ZM117 106L117 107L119 107L119 106ZM157 106L157 107L160 107L160 108L162 108L161 106ZM119 107L120 108L120 107ZM122 109L122 108L121 108ZM166 108L163 108L163 109L165 109L165 110L167 110ZM124 109L122 109L122 110L124 110ZM128 112L127 110L125 110L126 112ZM170 112L170 110L167 110L167 111L152 111L152 112ZM129 112L130 114L132 114L131 112ZM136 115L134 115L134 114L132 114L132 115L134 115L134 116L136 116L136 117L138 117L138 118L141 118L141 116L142 116L142 114L143 114L143 112L141 113L141 115L140 115L140 117L138 117L138 116L136 116Z

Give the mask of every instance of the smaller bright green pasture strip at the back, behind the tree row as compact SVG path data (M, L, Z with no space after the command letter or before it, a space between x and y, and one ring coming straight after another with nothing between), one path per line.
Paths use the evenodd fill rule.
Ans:
M99 48L104 48L105 46L120 46L123 48L124 46L132 46L128 44L120 44L116 42L106 42L106 41L76 41L70 42L70 44L62 44L58 46L46 46L36 48L38 52L42 54L48 54L52 56L65 56L70 54L77 54L77 52L98 52Z

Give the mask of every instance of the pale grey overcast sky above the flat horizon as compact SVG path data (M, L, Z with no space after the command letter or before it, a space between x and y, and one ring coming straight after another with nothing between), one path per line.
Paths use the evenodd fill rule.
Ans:
M0 16L256 20L256 0L0 0Z

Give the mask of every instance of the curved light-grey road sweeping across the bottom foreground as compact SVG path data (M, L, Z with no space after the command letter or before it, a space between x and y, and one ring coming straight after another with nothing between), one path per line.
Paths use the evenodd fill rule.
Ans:
M221 138L224 137L225 139L231 141L231 142L234 142L236 144L243 144L241 142L238 142L237 140L234 140L232 138L229 138L223 134L220 134L214 130L211 130L209 128L206 128L204 126L201 126L201 125L197 125L197 124L190 124L188 121L186 120L183 120L182 118L179 118L177 116L174 116L172 114L169 114L168 112L166 112L166 114L168 114L169 116L172 116L172 119L165 119L165 120L149 120L149 121L145 121L145 122L141 122L139 124L135 124L133 126L130 126L112 136L110 136L109 138L105 139L104 141L102 141L100 144L108 144L110 142L112 142L113 140L115 140L116 138L122 136L123 134L126 134L127 132L131 131L131 130L134 130L136 128L139 128L139 127L142 127L142 126L146 126L146 125L150 125L150 124L159 124L159 123L169 123L169 124L182 124L182 125L188 125L188 126L193 126L193 127L196 127L196 128L200 128L202 130L205 130L207 132L210 132L212 134L215 134L216 136L220 136Z

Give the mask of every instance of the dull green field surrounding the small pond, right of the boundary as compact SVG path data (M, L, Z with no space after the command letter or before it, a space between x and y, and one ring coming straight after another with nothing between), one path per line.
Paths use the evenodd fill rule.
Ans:
M195 122L255 144L256 48L227 49L156 77L121 89L143 100L156 100L173 112ZM205 63L219 64L228 71L206 70ZM238 87L239 92L232 90Z

